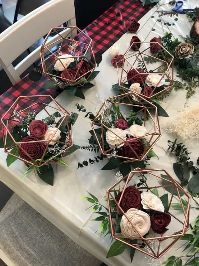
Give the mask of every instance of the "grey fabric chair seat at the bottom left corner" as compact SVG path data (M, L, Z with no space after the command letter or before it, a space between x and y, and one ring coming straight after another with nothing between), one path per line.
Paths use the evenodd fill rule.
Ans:
M0 212L0 228L0 248L16 266L101 264L16 194Z

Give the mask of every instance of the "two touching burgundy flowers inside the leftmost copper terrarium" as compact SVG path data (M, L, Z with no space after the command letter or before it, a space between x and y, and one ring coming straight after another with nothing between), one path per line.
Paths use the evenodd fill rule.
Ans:
M33 120L29 125L30 136L21 139L19 147L19 155L21 158L30 161L39 159L44 151L45 145L43 142L38 142L44 137L48 129L48 125L41 120Z

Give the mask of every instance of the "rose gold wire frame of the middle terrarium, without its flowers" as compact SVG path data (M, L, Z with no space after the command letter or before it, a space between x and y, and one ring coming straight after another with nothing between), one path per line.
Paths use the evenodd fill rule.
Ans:
M137 101L133 101L131 96L133 95L133 97L137 100ZM123 103L123 100L127 100L128 103ZM148 107L146 107L142 102L145 102ZM110 113L110 110L112 108L114 108L115 110L117 110L120 115L123 117L124 120L126 120L126 118L124 118L123 114L121 113L121 111L118 110L117 105L121 105L121 106L126 106L126 107L139 107L141 108L141 110L137 111L135 115L143 112L144 113L144 126L146 125L146 115L149 115L149 118L151 119L152 123L154 124L154 129L153 132L151 133L146 133L145 135L143 135L141 138L145 138L146 136L150 136L150 140L148 141L144 152L141 156L138 156L138 154L135 152L135 150L131 147L131 145L129 144L128 140L124 140L123 138L121 138L120 136L118 136L117 134L113 133L113 131L108 128L104 122L104 113L108 112ZM107 106L108 105L108 106ZM149 110L154 110L154 118L152 117L152 115L150 114ZM99 122L100 119L100 122ZM100 136L100 140L99 141L97 134L95 132L95 128L94 126L100 126L102 129L102 133ZM106 155L106 156L113 156L113 157L119 157L119 158L123 158L126 161L123 161L123 163L126 162L134 162L134 161L142 161L144 159L144 157L147 155L147 153L153 148L153 146L155 145L155 143L159 140L159 138L161 137L161 130L160 130L160 123L159 123L159 118L158 118L158 114L157 114L157 107L152 104L151 102L147 101L146 99L144 99L143 97L141 97L141 95L138 95L136 93L132 93L132 92L128 92L128 93L124 93L124 94L120 94L117 96L113 96L110 97L108 99L105 100L104 104L100 107L99 111L97 112L95 118L93 119L93 121L91 122L91 128L93 129L95 138L97 140L97 143L99 145L99 148L101 150L101 152ZM120 146L122 143L119 143L118 145L116 145L114 148L109 148L108 150L105 150L104 148L104 129L106 130L110 130L113 134L115 134L118 138L120 138L121 140L123 140L122 143L127 143L129 148L133 151L133 153L136 155L135 158L130 158L130 157L125 157L125 156L119 156L119 155L113 155L113 154L109 154L108 152L110 152L111 150L117 148L118 146ZM139 139L138 137L132 137L133 139ZM155 138L155 139L154 139ZM152 142L152 143L151 143Z

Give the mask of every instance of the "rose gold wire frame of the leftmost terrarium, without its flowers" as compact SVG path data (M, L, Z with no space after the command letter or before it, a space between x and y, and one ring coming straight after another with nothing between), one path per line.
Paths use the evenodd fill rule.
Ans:
M45 97L45 99L35 100L35 99L41 99L43 97ZM35 98L35 99L31 99L31 98ZM50 98L50 100L53 101L53 103L56 105L56 107L50 106L48 103L44 102L48 98ZM15 108L16 108L16 106L17 106L17 104L18 104L18 102L20 100L30 101L30 106L28 106L25 109L20 110L19 112L13 114L13 112L14 112L14 110L15 110ZM49 100L47 102L49 102ZM35 108L36 109L35 117L38 114L38 112L40 112L40 109L43 109L48 114L48 116L51 116L49 114L49 112L46 110L46 107L50 107L51 109L54 109L55 111L58 111L59 113L63 114L63 116L61 117L62 121L60 122L60 124L59 124L57 130L55 131L55 133L53 134L52 138L50 140L48 140L48 141L46 141L46 140L38 140L38 141L28 141L28 142L16 142L14 137L13 137L13 135L12 135L12 132L13 132L13 123L12 122L20 123L19 121L15 120L16 115L20 114L20 113L23 113L24 111L29 110L32 107L36 107ZM10 114L10 112L11 112L11 114ZM65 110L57 101L55 101L55 99L53 99L53 97L50 96L50 95L34 95L34 96L20 96L20 97L18 97L16 99L16 101L12 104L12 106L7 110L7 112L1 118L2 131L3 132L5 131L5 135L3 134L4 151L7 154L10 154L10 155L16 157L17 159L25 162L26 164L32 165L32 166L36 166L36 167L41 167L41 166L47 165L47 164L58 163L60 161L60 159L65 155L67 150L73 146L72 124L71 124L71 128L70 128L67 118L72 118L71 114L67 110ZM65 149L63 149L61 152L59 152L58 154L52 156L49 160L47 160L47 161L42 163L44 155L45 155L45 153L46 153L46 151L47 151L47 149L49 147L49 143L53 140L53 137L55 136L55 134L57 133L58 129L60 128L60 126L63 123L66 123L66 127L67 127L67 130L68 130L68 135L66 136L66 141L67 142L56 141L56 143L67 145L67 147ZM6 147L7 146L7 137L8 136L12 139L13 144L10 145L9 147ZM11 152L9 152L9 150L11 150L11 149L13 149L15 147L19 148L20 144L22 144L22 143L39 143L39 142L48 143L48 144L47 145L45 144L46 148L44 150L44 153L43 153L42 157L38 158L38 159L41 159L38 163L35 162L35 160L23 148L21 148L23 150L23 152L25 152L26 156L30 157L30 161L33 161L33 162L27 161L26 159L23 159L23 158L21 158L19 156L16 156L15 154L12 154ZM61 157L58 159L58 161L56 161L56 162L53 161L53 158L57 157L58 155L61 155Z

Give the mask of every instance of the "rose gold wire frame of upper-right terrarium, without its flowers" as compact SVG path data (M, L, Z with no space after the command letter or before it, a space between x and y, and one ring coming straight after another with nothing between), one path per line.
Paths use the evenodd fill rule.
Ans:
M145 48L143 51L140 51L141 50L141 47L140 47L140 48L137 48L137 51L132 52L131 47L133 45L136 45L136 44L141 44L141 46L142 46L142 44L149 44L149 47ZM157 57L155 57L153 55L149 55L149 54L145 53L146 50L150 49L150 45L151 44L154 44L154 45L155 44L158 44L160 46L160 48L161 48L160 53L161 53L162 57L164 58L164 60L159 59L159 58L157 58ZM130 50L131 50L131 52L129 53ZM168 62L168 60L166 60L166 58L165 58L162 50L164 51L164 53L167 53L171 57L171 60L169 62ZM158 61L161 61L166 66L165 72L149 72L147 70L147 65L145 64L145 61L144 61L144 58L143 58L142 55L148 56L148 57L151 57L151 58L154 58L154 59L157 59ZM141 57L141 61L144 64L144 66L145 66L145 68L147 70L147 72L145 72L145 73L139 73L136 70L136 67L134 66L135 63L137 62L139 56ZM135 57L135 60L134 60L133 64L129 61L129 59L132 58L132 57ZM142 79L142 75L153 74L153 73L154 74L158 74L158 75L162 75L161 79L159 80L158 84L154 87L154 89L152 90L152 92L151 92L150 95L146 96L146 95L140 94L144 98L150 99L152 97L153 98L155 97L156 99L159 99L160 97L162 97L168 91L168 89L170 89L174 85L174 82L173 82L173 79L174 79L174 56L172 56L158 42L143 42L143 41L133 42L131 44L131 46L128 48L128 50L124 53L122 60L123 60L122 67L119 65L119 64L121 64L121 62L120 62L121 60L118 61L116 65L117 65L117 73L118 73L118 83L119 83L119 86L123 89L124 92L131 91L130 89L128 89L127 87L125 87L124 84L127 82L127 73L128 73L128 71L130 71L132 69L136 70L136 72L137 72L137 74L134 77L136 77L138 75L141 78L141 80L142 80L142 84L141 85L144 86L144 92L147 92L147 90L146 90L146 86L147 85L145 85L145 82ZM125 70L125 68L124 68L125 62L127 62L127 65L129 65L128 70ZM153 71L158 70L159 68L160 68L160 66L159 67L156 67ZM120 71L120 69L121 69L121 71ZM124 73L124 77L123 77L123 73ZM160 84L161 80L164 77L166 77L169 80L168 81L169 84L166 85L164 87L164 89L162 89L161 91L154 93L155 92L155 89L158 87L158 85Z

